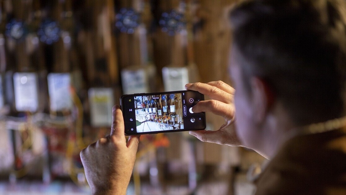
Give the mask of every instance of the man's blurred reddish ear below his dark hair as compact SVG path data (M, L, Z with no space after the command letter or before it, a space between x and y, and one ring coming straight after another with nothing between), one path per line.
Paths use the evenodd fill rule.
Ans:
M264 121L270 107L274 104L273 90L267 82L258 77L251 78L252 104L254 108L254 119L261 123Z

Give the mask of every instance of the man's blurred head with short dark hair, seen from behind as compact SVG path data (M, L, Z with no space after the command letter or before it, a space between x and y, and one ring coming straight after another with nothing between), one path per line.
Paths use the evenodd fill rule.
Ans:
M277 105L296 126L345 114L345 4L251 0L231 11L231 76L240 130L251 120L265 120Z

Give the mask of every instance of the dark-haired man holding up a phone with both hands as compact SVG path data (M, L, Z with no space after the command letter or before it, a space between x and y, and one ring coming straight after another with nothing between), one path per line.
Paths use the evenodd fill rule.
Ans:
M271 159L256 194L346 194L345 4L240 3L230 15L229 71L237 91L221 81L186 85L211 98L193 112L226 121L217 131L190 134ZM138 137L126 143L121 110L114 107L111 135L81 152L94 194L125 194L137 146Z

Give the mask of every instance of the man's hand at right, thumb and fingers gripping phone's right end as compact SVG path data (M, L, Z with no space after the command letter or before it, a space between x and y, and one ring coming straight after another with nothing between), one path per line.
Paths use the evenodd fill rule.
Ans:
M190 131L189 133L203 142L217 143L230 146L241 146L234 125L235 107L233 97L235 89L222 81L212 81L208 83L189 83L185 89L198 91L207 95L211 100L198 102L193 106L194 113L212 112L222 116L225 124L217 131Z

